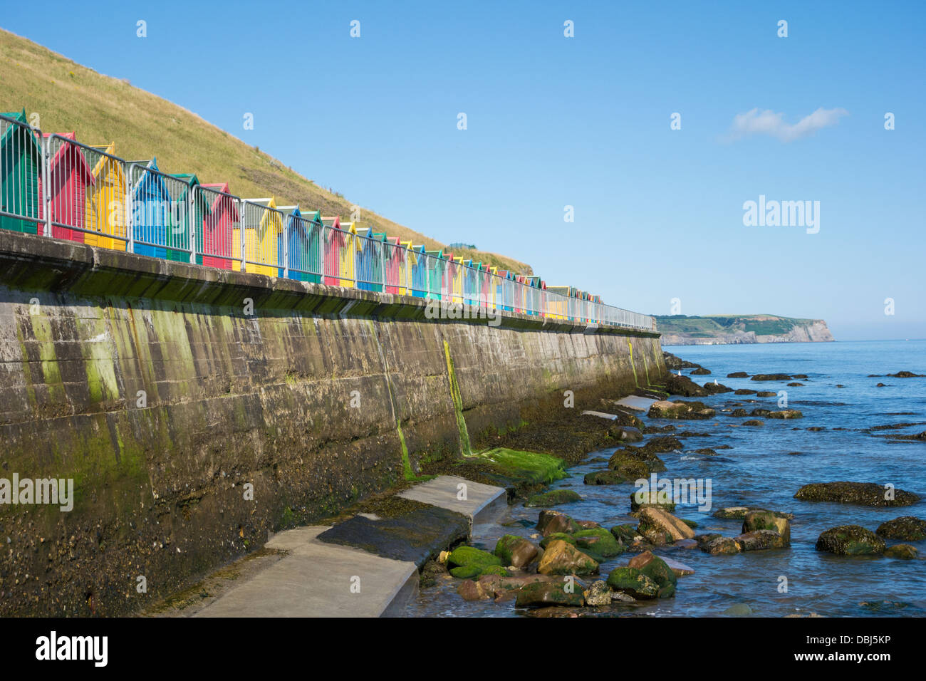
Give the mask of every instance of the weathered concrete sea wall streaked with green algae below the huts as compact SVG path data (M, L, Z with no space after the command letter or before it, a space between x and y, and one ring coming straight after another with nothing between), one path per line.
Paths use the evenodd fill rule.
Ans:
M76 497L0 505L0 614L131 612L459 456L448 355L477 444L664 371L656 334L424 309L0 231L0 478Z

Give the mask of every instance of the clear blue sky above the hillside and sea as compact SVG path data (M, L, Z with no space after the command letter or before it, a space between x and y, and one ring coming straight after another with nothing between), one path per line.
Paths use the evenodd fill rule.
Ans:
M548 284L655 314L679 298L823 318L850 340L926 337L924 19L912 2L98 0L14 4L0 26ZM790 127L818 109L819 129ZM742 115L752 134L732 134ZM759 195L820 201L820 232L745 226Z

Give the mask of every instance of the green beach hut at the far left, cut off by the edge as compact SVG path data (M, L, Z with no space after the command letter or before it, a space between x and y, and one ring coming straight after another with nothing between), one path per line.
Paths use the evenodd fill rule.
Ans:
M23 127L29 125L26 109L2 115L22 125L0 120L0 229L41 233L41 141L31 128Z

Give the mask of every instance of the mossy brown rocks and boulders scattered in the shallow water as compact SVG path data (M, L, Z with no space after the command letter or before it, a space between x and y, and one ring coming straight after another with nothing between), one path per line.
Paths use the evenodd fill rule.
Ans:
M708 407L698 400L679 399L675 396L707 397L727 392L734 397L742 395L745 402L730 402L720 411L728 418L743 419L744 426L761 427L764 423L748 417L766 420L805 418L800 410L763 407L746 409L748 402L757 401L754 397L775 397L777 393L733 391L717 380L699 385L689 376L682 376L682 370L701 376L710 374L707 368L669 353L665 353L665 358L670 372L663 377L662 383L650 385L646 391L638 391L650 397L658 397L649 407L646 419L656 420L660 424L644 422L632 410L620 408L614 402L603 405L603 409L607 408L616 419L607 427L599 425L597 432L607 442L604 447L615 448L615 451L608 459L600 459L601 463L607 463L606 468L584 475L585 485L627 484L646 480L651 475L655 480L655 473L667 470L665 461L658 456L660 453L688 451L688 442L683 443L682 439L709 437L709 433L682 432L675 423L681 425L682 422L715 419L718 409ZM919 377L913 372L889 375ZM729 377L750 378L759 385L763 382L799 379L788 384L795 387L804 385L801 383L803 381L809 381L806 374L782 372L752 376L745 372L732 372ZM607 423L603 419L600 421ZM877 434L899 426L913 425L918 423L874 425L857 430L872 436L882 436ZM575 423L568 425L563 422L559 427L566 431L564 440L569 441L571 431L576 429ZM814 426L807 428L816 429ZM895 437L926 440L926 432ZM600 443L598 448L603 448ZM693 446L691 449L700 455L717 456L715 448ZM588 462L587 452L591 450L586 449L580 457L572 452L564 465L581 460ZM606 527L596 519L573 518L559 510L562 507L568 508L568 504L580 499L581 495L571 490L544 492L543 487L521 486L520 492L517 491L517 485L509 487L514 503L544 509L539 511L530 537L501 536L493 550L464 545L443 552L437 560L425 566L422 585L433 584L442 578L453 579L457 582L457 593L464 600L509 603L535 615L620 613L657 599L673 598L677 589L684 587L683 577L694 574L693 568L674 560L667 555L667 551L689 549L709 555L729 555L791 548L791 523L794 515L786 511L745 506L719 509L713 512L713 517L742 519L739 534L697 534L697 523L674 514L676 504L673 498L655 492L651 492L647 498L644 492L638 491L631 495L628 507L637 523ZM808 482L795 489L794 498L800 503L839 503L849 509L852 506L903 507L920 502L920 496L912 491L874 482L848 481ZM847 520L851 521L851 518ZM926 520L915 515L905 515L885 521L874 529L851 522L832 527L821 526L817 536L814 548L834 556L917 561L922 560L919 550L906 542L926 538ZM600 574L603 562L613 561L624 554L630 557L625 564L620 564L607 574Z

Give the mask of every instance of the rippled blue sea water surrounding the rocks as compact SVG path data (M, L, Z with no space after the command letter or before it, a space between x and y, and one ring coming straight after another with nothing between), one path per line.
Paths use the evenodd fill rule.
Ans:
M870 341L743 346L668 347L672 353L702 364L709 376L694 376L700 384L714 378L732 388L786 390L788 407L801 410L797 421L761 419L765 426L736 427L720 409L733 402L751 410L777 409L777 398L733 396L704 397L718 410L716 419L675 422L680 430L710 433L709 437L682 438L681 451L659 456L668 470L660 477L710 478L711 511L727 506L762 507L795 514L791 549L753 551L735 556L710 556L698 549L657 549L694 568L680 578L674 599L654 601L642 607L621 607L618 614L721 615L736 604L745 604L755 616L782 616L816 612L825 616L923 616L926 615L926 561L888 558L841 557L814 549L817 537L838 524L854 523L874 530L880 523L902 515L926 518L926 500L909 507L870 509L835 503L812 503L794 497L811 482L849 480L891 483L926 499L926 443L891 441L886 435L913 434L926 430L926 378L869 378L871 373L901 370L926 373L926 341ZM731 372L806 373L804 387L787 387L787 381L757 383L728 379ZM688 374L690 370L683 370ZM886 387L875 387L879 382ZM837 388L837 384L845 387ZM753 404L746 400L756 399ZM663 422L645 420L649 424ZM918 422L895 431L874 435L861 429L875 425ZM820 426L820 432L807 431ZM842 428L845 430L834 430ZM717 448L718 456L694 454L696 448ZM591 452L589 458L609 457L613 449ZM794 454L792 452L799 452ZM603 463L583 463L569 469L570 476L555 488L574 489L582 501L557 507L578 520L594 520L605 527L636 523L627 515L632 485L585 486L585 473L607 468ZM473 543L494 549L504 534L531 537L532 526L502 523L535 522L538 510L509 507L499 523L474 528ZM742 521L718 520L694 505L680 505L676 514L699 523L698 534L739 534ZM537 538L533 539L537 541ZM899 543L888 541L888 544ZM926 541L911 542L926 556ZM625 565L629 554L601 566L602 576ZM780 577L787 578L786 593L779 591ZM465 602L457 596L458 582L448 578L423 588L409 615L519 616L525 614L512 602ZM742 606L739 606L742 609Z

